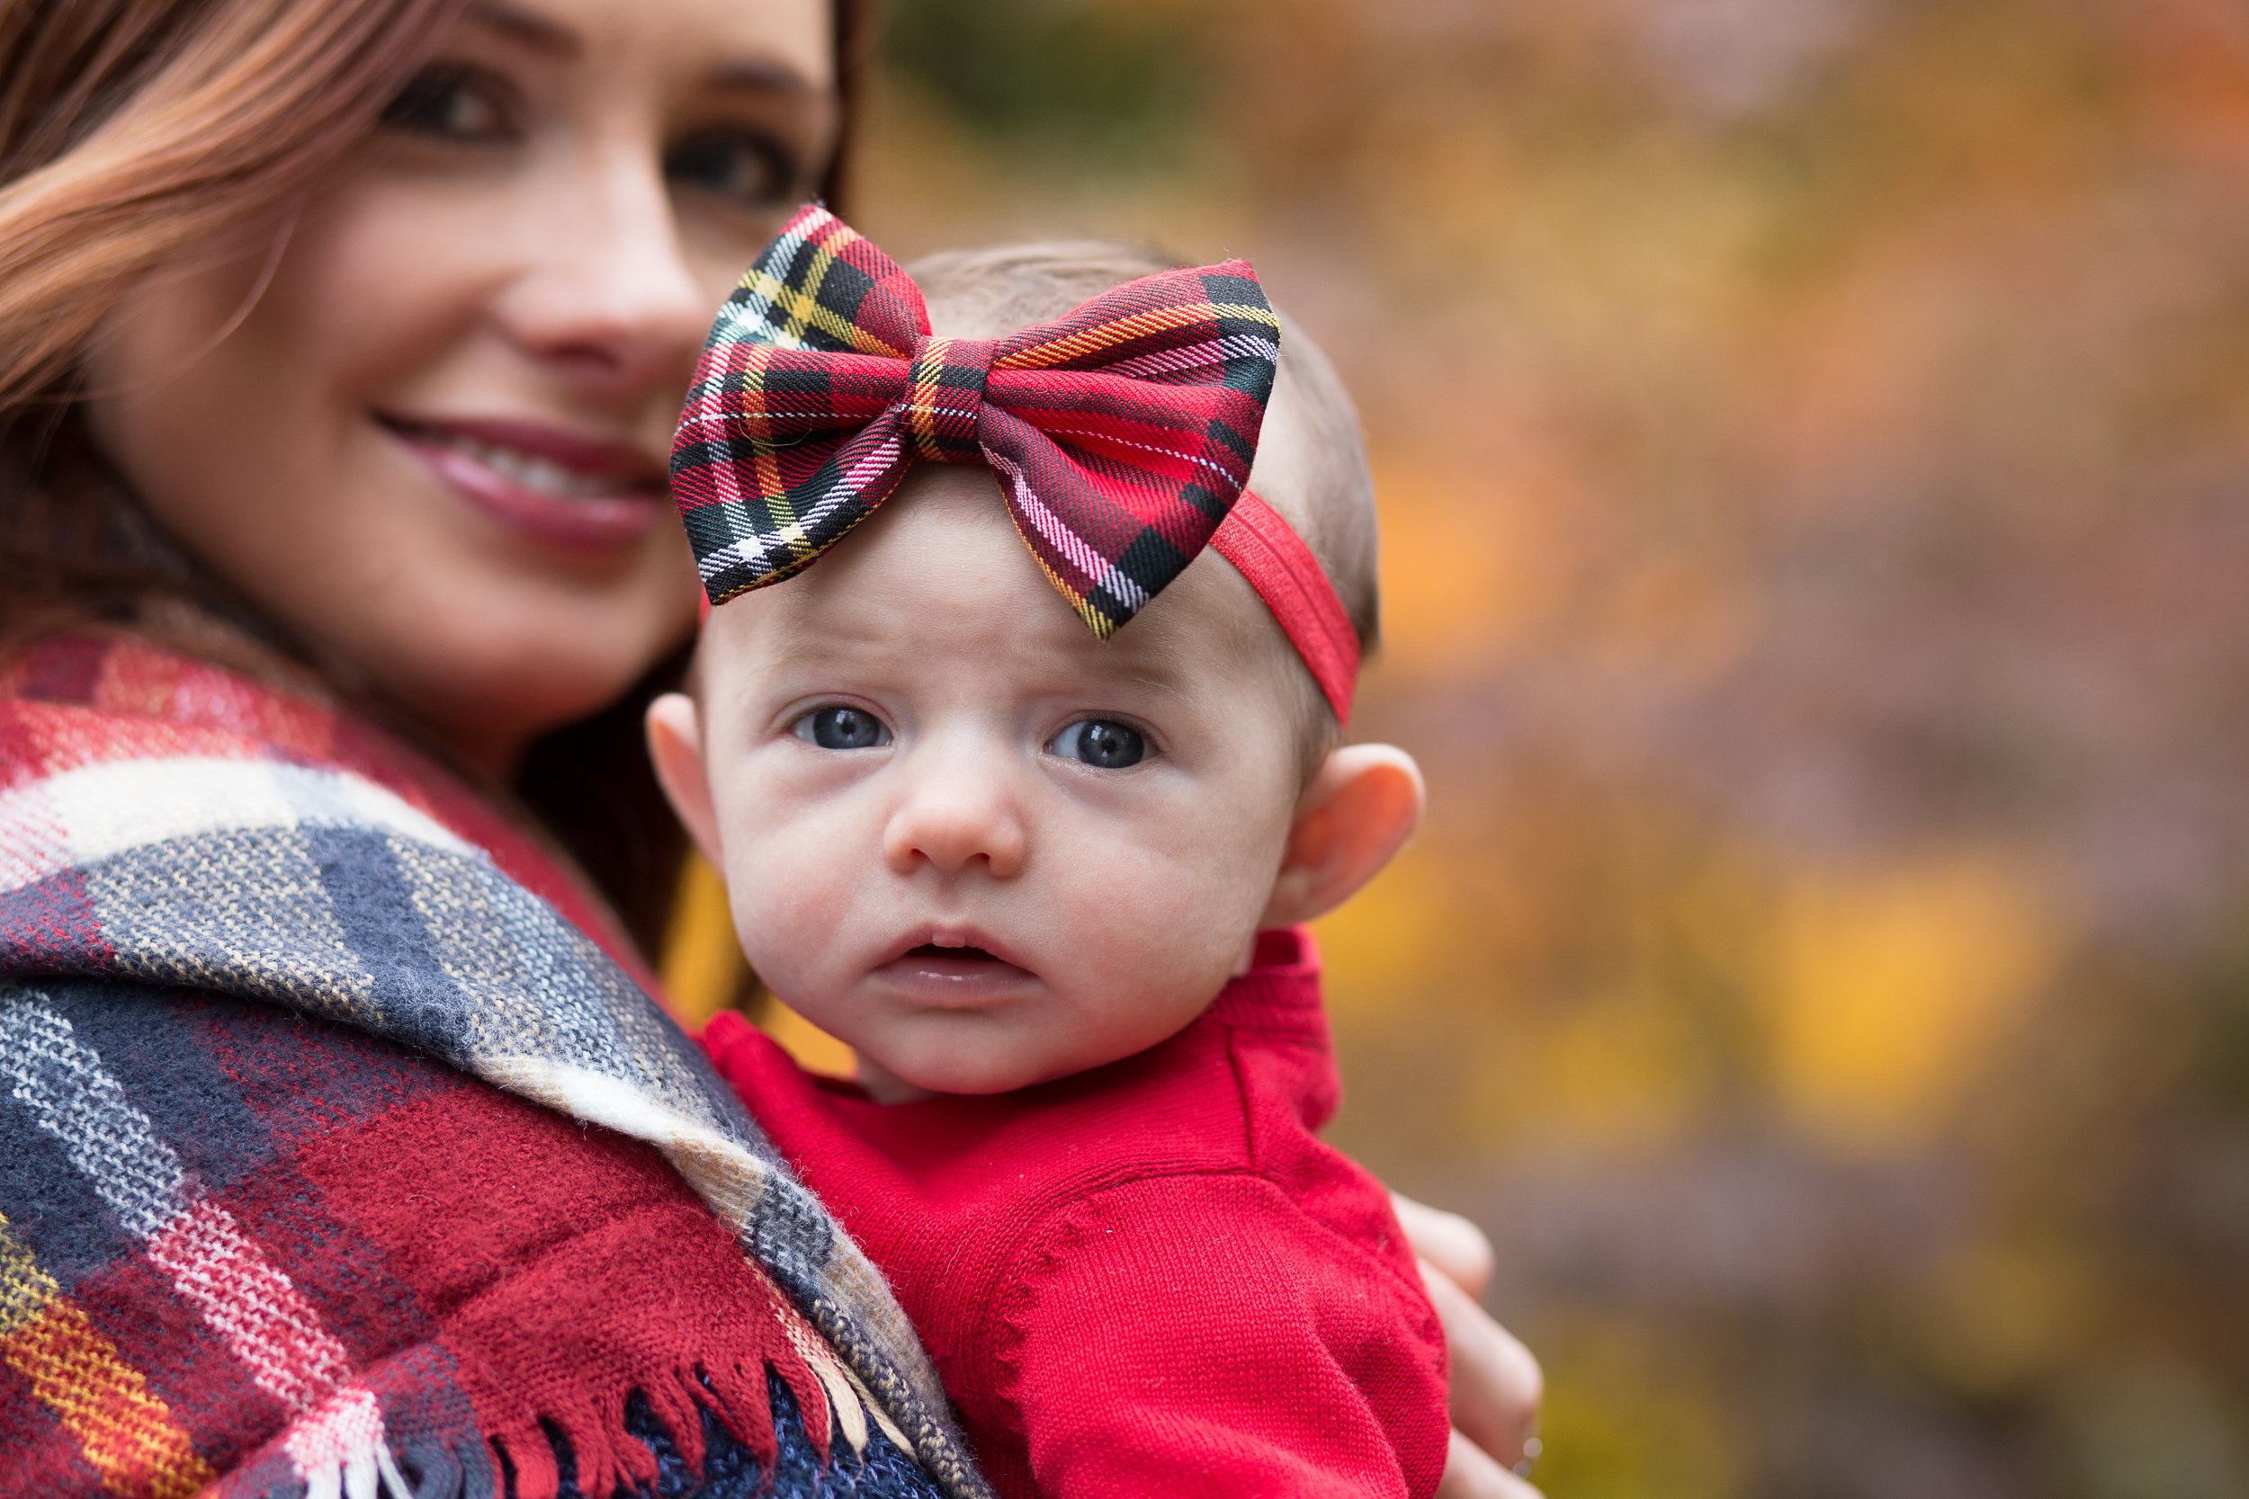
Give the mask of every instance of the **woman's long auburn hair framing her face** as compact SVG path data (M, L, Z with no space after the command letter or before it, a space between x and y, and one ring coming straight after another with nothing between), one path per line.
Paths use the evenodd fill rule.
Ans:
M245 618L216 580L103 544L99 497L115 479L72 409L79 357L144 274L241 254L245 227L376 128L466 4L0 0L0 647L67 625L142 629L157 600ZM864 0L830 4L848 128L868 29ZM839 187L830 164L830 200ZM288 649L283 632L263 634ZM502 789L578 856L643 948L686 843L648 769L641 708L681 663L542 739Z

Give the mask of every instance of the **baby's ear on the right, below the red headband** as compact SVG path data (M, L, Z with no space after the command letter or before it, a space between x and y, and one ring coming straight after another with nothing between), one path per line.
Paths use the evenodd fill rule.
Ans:
M1304 787L1262 930L1327 915L1406 847L1421 825L1421 766L1392 744L1345 744Z

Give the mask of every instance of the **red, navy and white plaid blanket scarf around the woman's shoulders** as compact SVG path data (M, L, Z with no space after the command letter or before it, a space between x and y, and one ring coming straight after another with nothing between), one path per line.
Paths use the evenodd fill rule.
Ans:
M349 715L0 665L0 1495L983 1495L571 879Z

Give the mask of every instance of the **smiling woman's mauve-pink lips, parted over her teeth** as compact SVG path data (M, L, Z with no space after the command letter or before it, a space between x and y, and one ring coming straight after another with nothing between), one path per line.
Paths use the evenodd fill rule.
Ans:
M515 420L380 420L457 494L540 542L623 548L668 508L663 470L623 443Z

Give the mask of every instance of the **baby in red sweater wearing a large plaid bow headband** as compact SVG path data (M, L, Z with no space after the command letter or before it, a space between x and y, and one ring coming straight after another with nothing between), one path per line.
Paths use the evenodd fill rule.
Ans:
M758 975L859 1079L738 1016L706 1047L1001 1495L1430 1495L1437 1319L1383 1189L1311 1133L1338 1083L1300 924L1421 814L1410 757L1343 744L1376 616L1349 400L1293 330L1275 378L1239 263L915 281L805 209L681 423L704 580L756 591L650 748ZM922 301L1001 357L920 339ZM1136 456L1172 438L1203 447ZM1138 519L1089 542L1100 494Z

